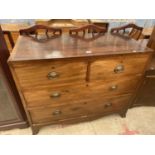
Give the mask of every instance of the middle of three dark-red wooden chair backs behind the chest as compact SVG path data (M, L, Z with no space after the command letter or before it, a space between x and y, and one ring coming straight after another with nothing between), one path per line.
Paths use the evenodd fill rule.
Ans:
M70 36L81 38L84 40L96 39L97 37L103 35L105 32L106 32L105 28L96 26L94 24L88 24L80 28L74 28L69 30ZM88 34L91 34L91 35L89 35L89 37L86 38Z

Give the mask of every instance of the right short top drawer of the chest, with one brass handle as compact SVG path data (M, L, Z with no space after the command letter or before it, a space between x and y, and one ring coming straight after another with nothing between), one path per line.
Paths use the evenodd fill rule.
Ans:
M148 58L148 54L139 54L96 60L91 64L90 80L108 80L142 74Z

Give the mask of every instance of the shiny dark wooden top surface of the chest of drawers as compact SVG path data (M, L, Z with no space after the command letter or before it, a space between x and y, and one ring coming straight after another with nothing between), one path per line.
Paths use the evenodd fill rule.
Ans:
M146 44L147 40L135 41L109 33L92 41L73 38L67 34L46 42L37 42L30 37L20 36L9 61L153 52L146 47Z

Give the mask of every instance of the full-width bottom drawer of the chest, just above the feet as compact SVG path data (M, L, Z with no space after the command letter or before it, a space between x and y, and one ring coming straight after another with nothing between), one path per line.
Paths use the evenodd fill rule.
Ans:
M29 111L33 123L46 123L80 116L117 112L127 107L130 96L100 98L58 107L44 107Z

